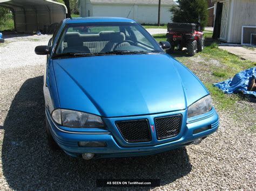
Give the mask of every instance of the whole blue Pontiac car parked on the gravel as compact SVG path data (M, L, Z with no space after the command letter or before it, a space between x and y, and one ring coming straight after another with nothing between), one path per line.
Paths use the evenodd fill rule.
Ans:
M64 19L48 46L44 74L50 148L84 159L154 154L218 129L203 83L138 23Z

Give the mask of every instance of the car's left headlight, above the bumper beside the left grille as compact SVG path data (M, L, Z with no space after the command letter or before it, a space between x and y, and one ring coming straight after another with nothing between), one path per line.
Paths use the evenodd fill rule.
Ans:
M103 128L102 118L81 111L56 109L52 112L53 120L70 128Z

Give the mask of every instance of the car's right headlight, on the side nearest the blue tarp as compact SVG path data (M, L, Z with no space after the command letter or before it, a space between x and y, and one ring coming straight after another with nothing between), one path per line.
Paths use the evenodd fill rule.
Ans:
M187 117L193 117L196 115L204 114L212 109L212 98L207 95L197 102L190 105L187 109Z

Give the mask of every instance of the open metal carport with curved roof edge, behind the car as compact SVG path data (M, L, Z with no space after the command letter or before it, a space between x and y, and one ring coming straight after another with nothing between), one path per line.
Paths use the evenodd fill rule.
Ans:
M66 6L51 0L0 0L0 6L14 13L17 32L36 32L65 18Z

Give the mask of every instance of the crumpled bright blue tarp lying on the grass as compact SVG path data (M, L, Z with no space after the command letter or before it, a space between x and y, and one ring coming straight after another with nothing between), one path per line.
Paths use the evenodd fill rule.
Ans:
M227 79L223 82L214 83L213 86L223 90L224 93L232 94L241 92L243 94L254 95L256 97L256 91L247 91L248 83L251 78L256 77L256 67L252 67L234 75L233 78Z

